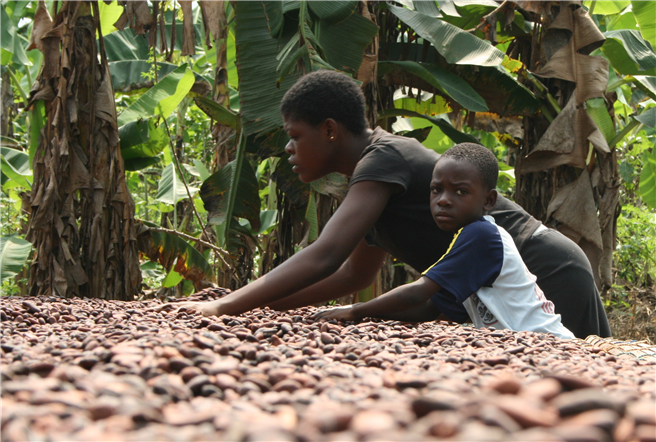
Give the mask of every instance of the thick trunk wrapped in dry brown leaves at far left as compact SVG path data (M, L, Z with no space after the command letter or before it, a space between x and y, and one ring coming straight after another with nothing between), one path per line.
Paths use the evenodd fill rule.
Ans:
M44 65L31 100L44 101L48 124L33 162L30 294L132 300L141 290L134 202L91 15L98 17L98 1L65 0L54 23L43 2L39 8L35 28L46 32L35 44Z

